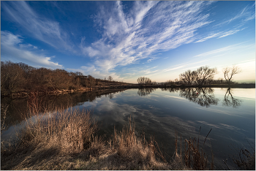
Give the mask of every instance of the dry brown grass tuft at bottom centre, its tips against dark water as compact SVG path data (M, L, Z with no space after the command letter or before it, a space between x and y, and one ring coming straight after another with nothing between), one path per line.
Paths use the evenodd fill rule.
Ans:
M114 129L113 137L108 141L110 149L116 153L116 159L124 167L117 167L122 170L170 170L167 162L157 159L163 158L159 151L157 142L153 137L146 140L144 134L140 136L135 132L135 122L129 118L129 125L124 126L120 132ZM110 167L112 168L112 167Z

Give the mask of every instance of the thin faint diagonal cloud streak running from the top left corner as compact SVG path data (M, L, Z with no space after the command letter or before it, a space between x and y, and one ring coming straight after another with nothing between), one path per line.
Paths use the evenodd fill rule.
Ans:
M61 29L59 23L39 16L26 1L4 2L1 8L12 21L25 28L30 36L59 50L75 53L74 46L69 45L68 34Z

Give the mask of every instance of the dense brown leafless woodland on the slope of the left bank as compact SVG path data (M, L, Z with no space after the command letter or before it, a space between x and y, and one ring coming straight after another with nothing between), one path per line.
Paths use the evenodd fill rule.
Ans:
M1 95L17 91L56 91L57 89L92 88L102 82L81 72L67 72L64 69L34 68L24 63L1 61Z

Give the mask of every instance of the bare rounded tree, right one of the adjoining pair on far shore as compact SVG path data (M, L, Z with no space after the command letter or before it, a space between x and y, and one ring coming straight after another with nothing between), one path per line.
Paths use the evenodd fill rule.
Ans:
M195 83L197 83L198 86L202 86L210 82L209 80L212 80L217 73L217 68L211 69L208 66L201 66L195 72Z

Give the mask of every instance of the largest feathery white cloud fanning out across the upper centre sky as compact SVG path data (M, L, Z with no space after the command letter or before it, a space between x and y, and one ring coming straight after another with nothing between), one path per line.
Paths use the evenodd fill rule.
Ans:
M116 66L135 64L143 58L157 59L154 53L194 42L198 28L211 23L203 1L135 1L124 12L116 1L111 11L101 7L94 16L102 38L80 49L94 59L96 69L111 71ZM85 39L83 39L84 41Z

